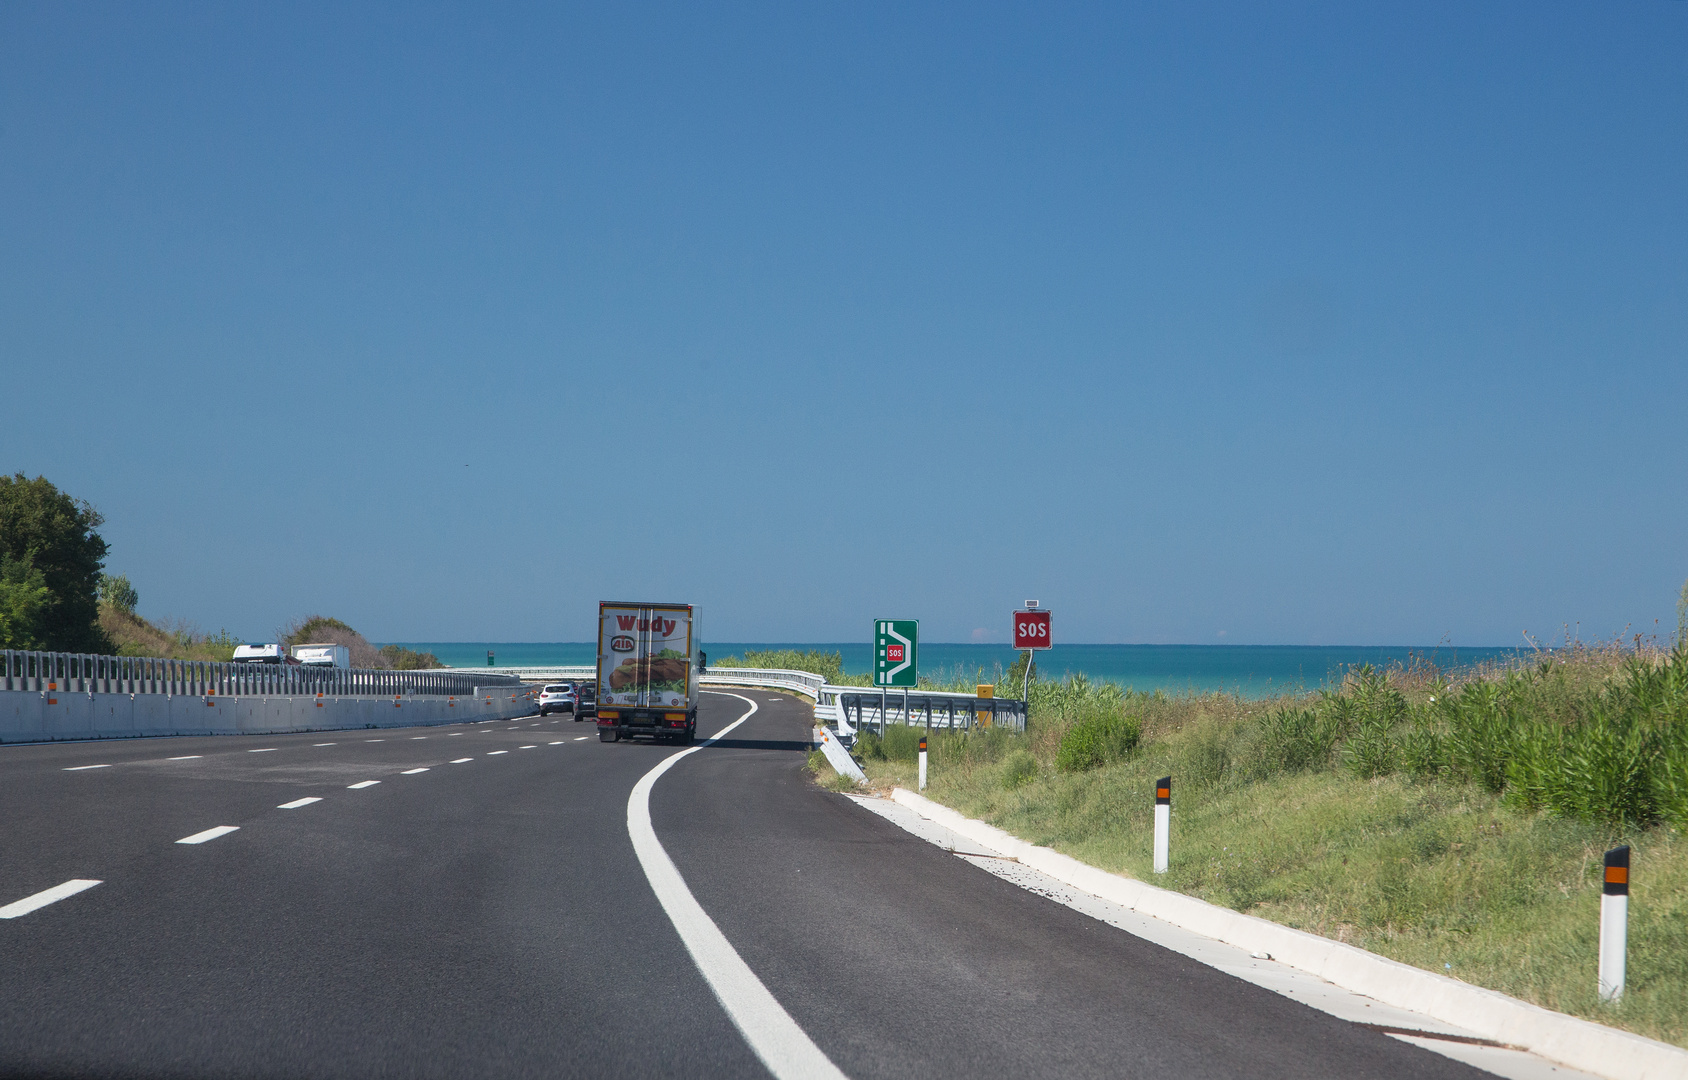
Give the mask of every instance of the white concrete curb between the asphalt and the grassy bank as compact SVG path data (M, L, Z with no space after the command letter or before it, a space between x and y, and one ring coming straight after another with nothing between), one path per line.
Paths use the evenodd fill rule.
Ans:
M1050 847L1026 844L994 825L964 817L906 788L896 788L891 798L969 840L1011 856L1075 889L1249 952L1269 953L1280 964L1312 972L1384 1004L1423 1012L1447 1024L1477 1031L1497 1043L1519 1046L1550 1061L1570 1065L1597 1077L1610 1077L1610 1080L1681 1080L1688 1077L1688 1050L1669 1043L1553 1012L1497 991L1485 991L1458 979L1379 957L1354 945L1280 926L1133 878L1099 871Z

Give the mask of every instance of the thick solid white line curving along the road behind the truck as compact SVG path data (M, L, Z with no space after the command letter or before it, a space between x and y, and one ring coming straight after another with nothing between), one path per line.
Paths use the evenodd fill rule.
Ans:
M756 702L748 697L721 694L719 690L706 690L706 694L738 697L749 705L749 712L699 746L665 758L657 768L640 776L640 781L633 785L633 793L628 795L628 835L633 837L633 850L638 854L640 866L645 869L645 878L662 903L662 910L680 933L680 940L685 942L685 950L692 953L697 970L702 972L709 982L709 989L721 1001L721 1007L733 1018L739 1034L744 1036L749 1048L761 1058L761 1063L768 1066L768 1072L778 1080L797 1080L800 1077L803 1080L844 1080L839 1066L815 1046L814 1040L785 1011L785 1006L768 992L768 987L761 984L756 972L749 970L749 965L738 955L738 950L721 933L716 921L697 903L680 871L668 859L668 852L663 850L662 840L657 839L655 827L650 824L650 791L657 785L657 780L679 764L682 758L695 754L704 746L721 739L721 736L756 712Z

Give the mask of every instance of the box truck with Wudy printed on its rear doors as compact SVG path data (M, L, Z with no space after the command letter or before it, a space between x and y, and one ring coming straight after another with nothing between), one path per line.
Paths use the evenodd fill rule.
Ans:
M598 604L598 737L690 742L701 650L690 604Z

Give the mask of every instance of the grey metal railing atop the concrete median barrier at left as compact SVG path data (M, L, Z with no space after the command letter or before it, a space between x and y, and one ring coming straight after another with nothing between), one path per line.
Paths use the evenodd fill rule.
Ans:
M159 656L100 656L0 650L0 690L66 694L182 694L235 697L471 697L476 687L520 687L506 675L383 672L279 663L216 663Z

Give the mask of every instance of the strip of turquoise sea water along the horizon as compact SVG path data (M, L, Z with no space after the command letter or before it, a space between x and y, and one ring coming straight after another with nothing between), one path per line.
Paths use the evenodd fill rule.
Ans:
M405 648L434 653L451 667L484 667L491 650L498 667L550 663L592 663L591 641L398 641ZM844 670L869 670L873 646L866 641L792 645L778 641L712 641L712 660L746 650L797 648L842 653ZM996 667L1009 667L1014 650L1003 645L920 645L920 672L940 680L996 678ZM1062 645L1038 653L1045 678L1082 672L1092 680L1117 682L1136 690L1229 690L1244 697L1266 697L1286 690L1313 690L1342 678L1361 663L1384 667L1423 656L1443 668L1514 656L1512 648L1369 646L1369 645ZM1006 695L1006 687L1004 687Z

